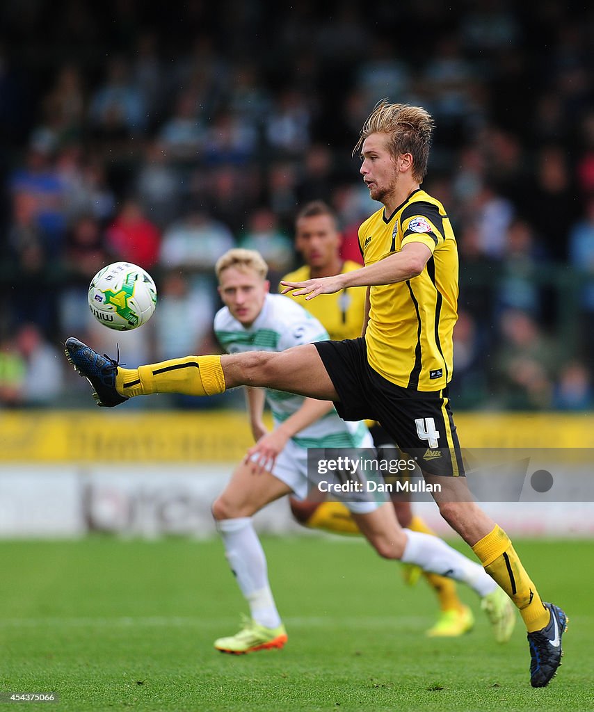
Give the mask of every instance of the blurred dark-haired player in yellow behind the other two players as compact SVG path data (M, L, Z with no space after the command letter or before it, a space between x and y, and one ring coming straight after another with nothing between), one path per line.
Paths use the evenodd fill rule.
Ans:
M352 260L343 261L340 256L342 236L334 211L321 200L306 204L298 212L295 220L295 247L305 264L288 273L283 281L301 282L311 278L344 274L360 268ZM295 300L305 307L325 327L330 338L335 341L355 339L363 330L365 314L365 287L345 287L323 299L306 300L297 296ZM370 424L378 457L393 457L394 443L380 424ZM339 501L312 502L290 497L293 516L302 524L335 533L360 534L357 523L348 508ZM401 526L427 533L433 533L418 515L413 516L410 502L401 496L392 498L398 522ZM417 580L421 571L418 567L405 565L405 576L411 583ZM468 632L474 624L471 609L465 606L457 595L452 579L424 572L427 582L437 593L441 615L428 631L429 637L456 637Z

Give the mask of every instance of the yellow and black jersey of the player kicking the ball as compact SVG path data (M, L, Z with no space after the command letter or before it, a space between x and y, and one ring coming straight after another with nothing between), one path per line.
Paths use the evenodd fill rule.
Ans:
M401 387L438 391L452 377L458 251L444 207L422 189L391 216L378 210L359 228L365 265L400 252L410 242L427 245L432 256L419 276L371 288L368 361Z

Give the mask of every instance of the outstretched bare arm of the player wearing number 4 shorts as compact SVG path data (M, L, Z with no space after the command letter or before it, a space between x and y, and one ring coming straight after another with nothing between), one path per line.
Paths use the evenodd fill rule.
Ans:
M306 294L306 299L309 300L318 294L333 294L347 287L372 287L405 282L420 275L429 257L431 250L427 245L409 242L400 252L351 272L334 277L308 279L305 282L283 281L283 294L290 292L294 297Z

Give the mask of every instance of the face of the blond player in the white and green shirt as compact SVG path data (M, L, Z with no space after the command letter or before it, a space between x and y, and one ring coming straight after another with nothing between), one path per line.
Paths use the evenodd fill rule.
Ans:
M229 267L219 277L219 294L224 305L245 327L258 318L269 289L270 282L251 269Z

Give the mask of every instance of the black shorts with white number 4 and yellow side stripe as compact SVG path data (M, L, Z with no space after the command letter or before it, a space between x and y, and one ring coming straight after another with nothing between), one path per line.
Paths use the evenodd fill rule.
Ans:
M343 420L379 421L423 472L464 475L447 389L417 391L388 381L369 365L363 338L313 345L338 393L335 407Z

